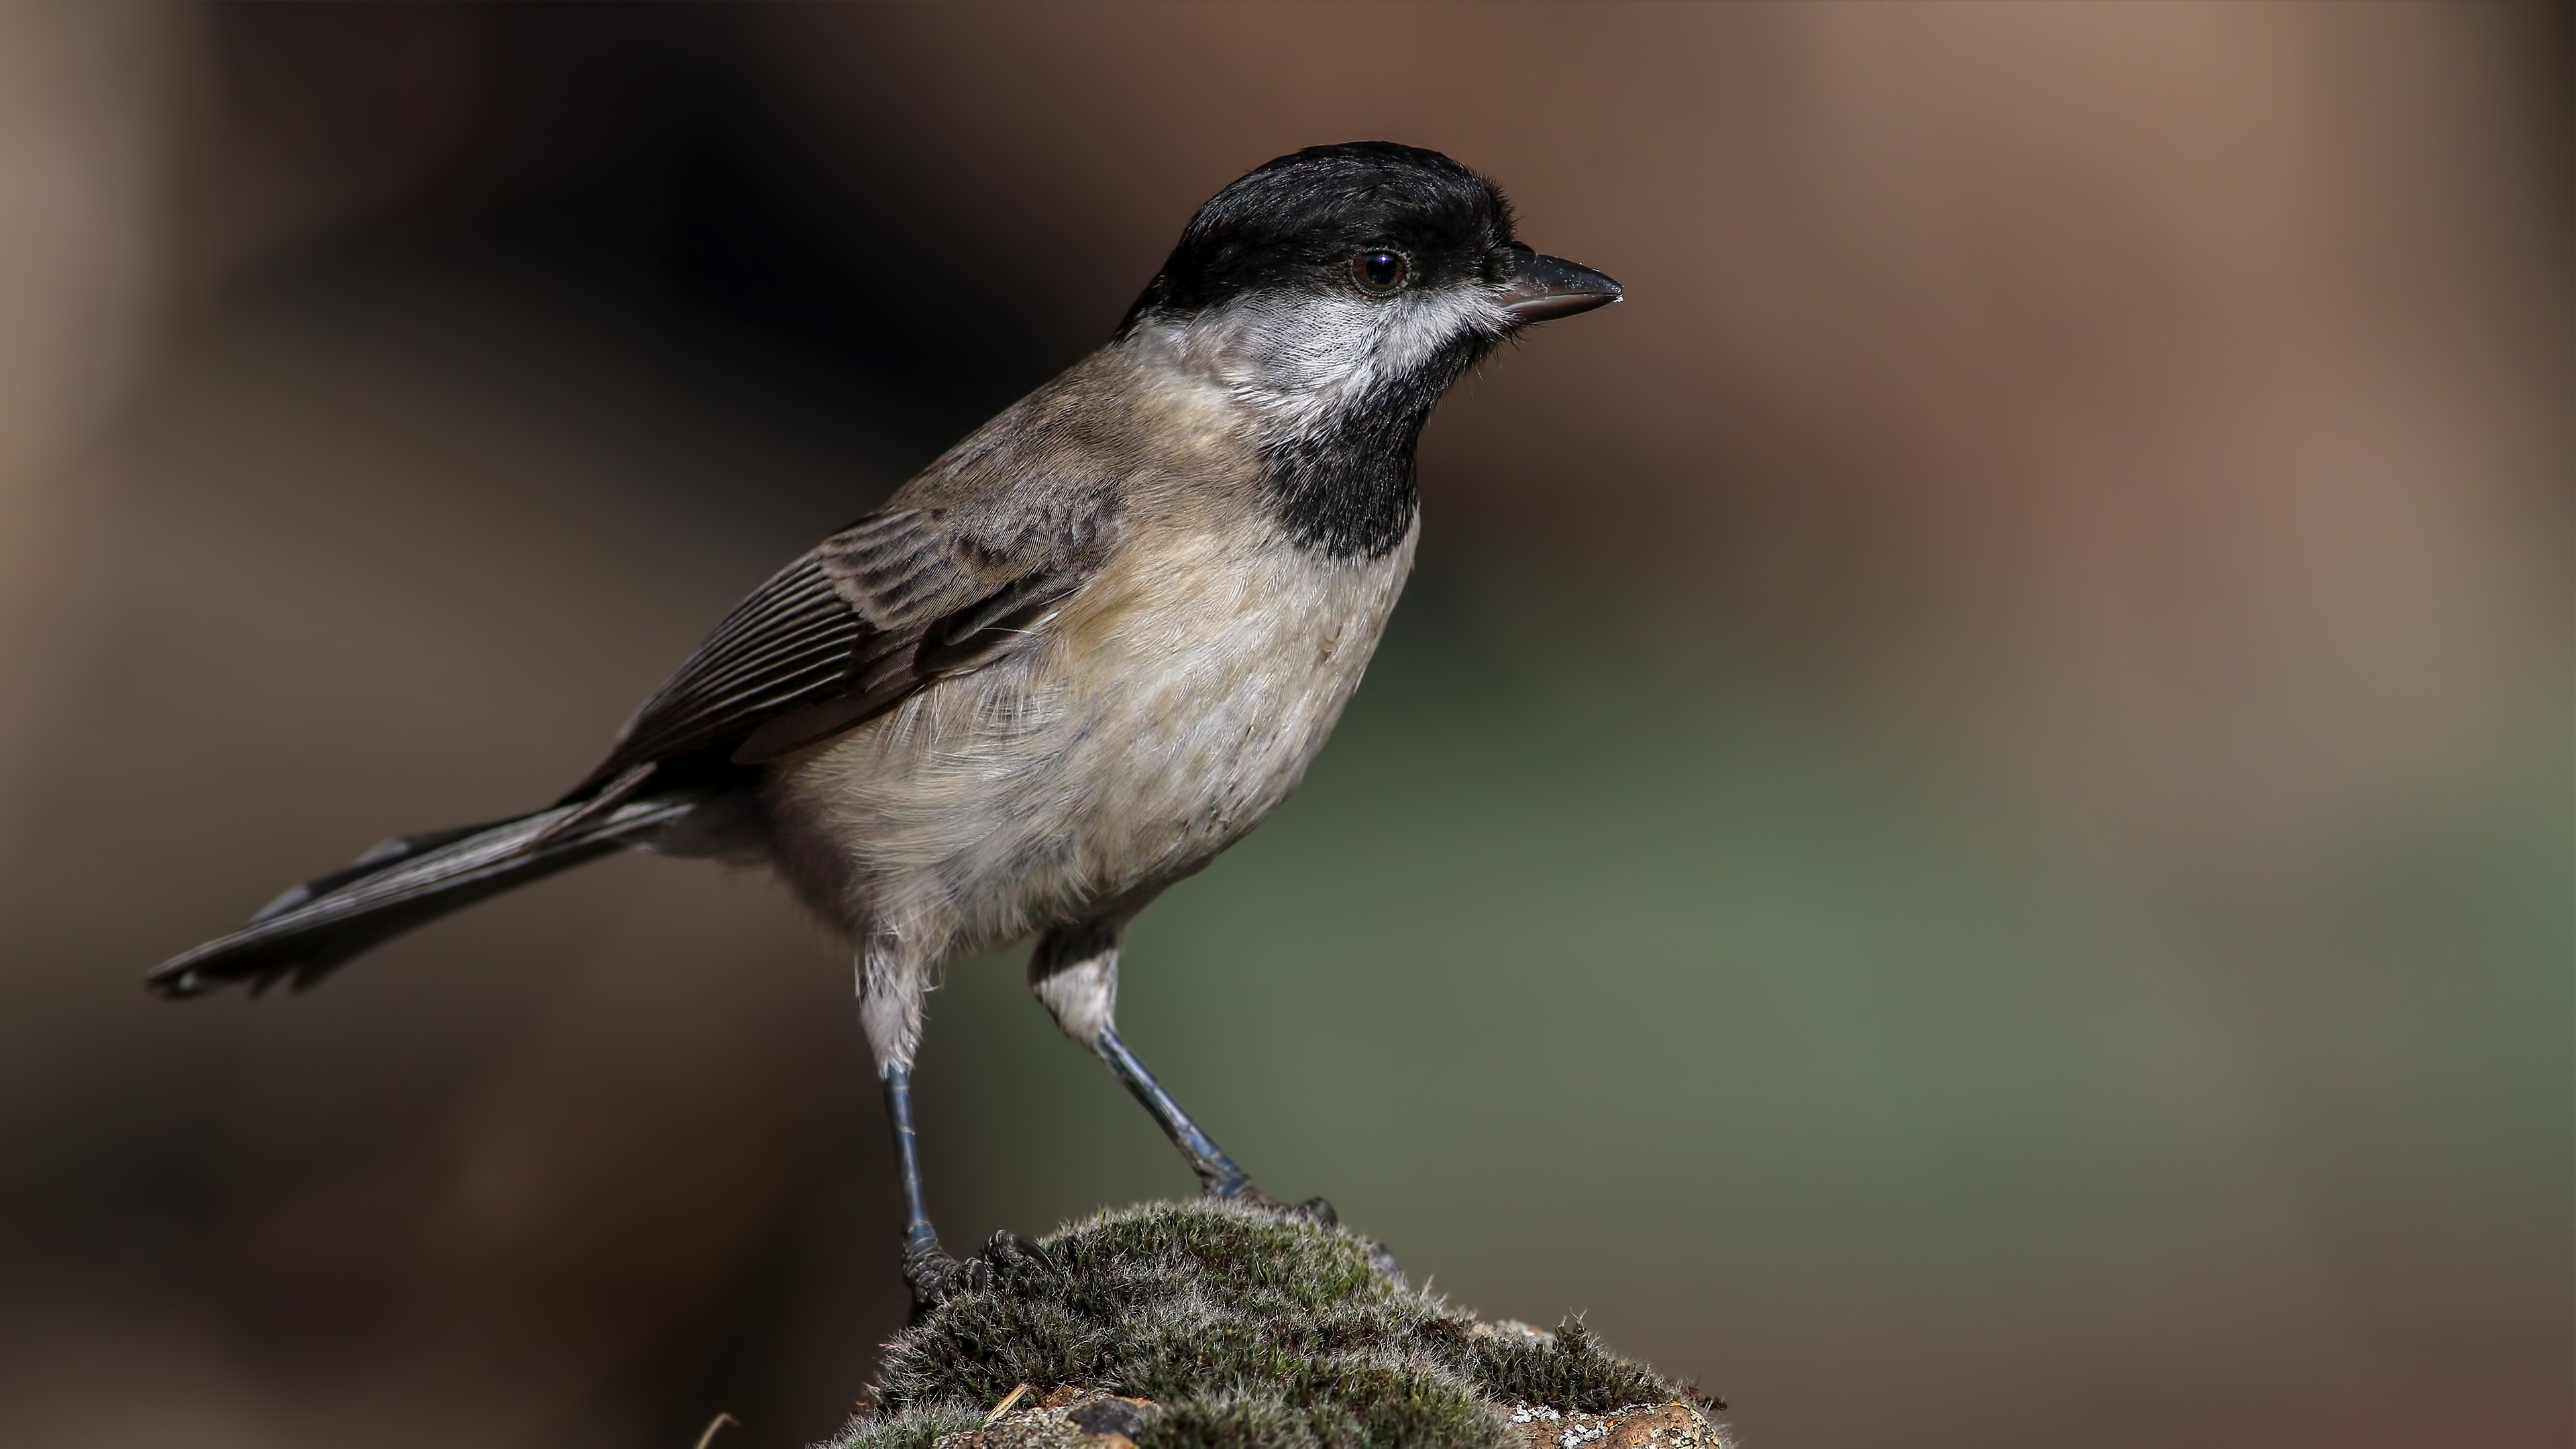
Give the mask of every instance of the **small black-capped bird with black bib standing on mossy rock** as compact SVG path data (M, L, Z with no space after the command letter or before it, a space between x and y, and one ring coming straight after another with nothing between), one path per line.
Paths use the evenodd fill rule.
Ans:
M600 768L515 820L402 835L149 975L309 987L611 851L768 864L850 941L914 1307L979 1287L922 1204L912 1060L943 964L1028 985L1213 1196L1270 1201L1118 1036L1118 936L1296 789L1414 562L1414 443L1522 327L1620 299L1502 191L1391 142L1218 191L1115 335L734 608ZM1329 1217L1329 1207L1309 1212Z

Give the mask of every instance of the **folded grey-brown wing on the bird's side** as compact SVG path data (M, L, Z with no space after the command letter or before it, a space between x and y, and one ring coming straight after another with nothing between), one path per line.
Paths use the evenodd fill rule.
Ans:
M760 763L837 735L997 657L1087 578L963 544L940 523L935 508L873 513L778 570L567 799L605 804L680 755Z

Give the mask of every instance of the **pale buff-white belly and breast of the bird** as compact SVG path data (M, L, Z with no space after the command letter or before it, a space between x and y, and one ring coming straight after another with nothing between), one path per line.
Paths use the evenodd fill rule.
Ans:
M1296 789L1412 554L1412 534L1365 562L1195 531L1126 549L1025 655L786 766L778 864L917 967L1139 908Z

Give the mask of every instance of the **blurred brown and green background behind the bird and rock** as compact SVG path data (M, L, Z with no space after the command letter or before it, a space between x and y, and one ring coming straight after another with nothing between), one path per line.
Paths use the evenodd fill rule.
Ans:
M1285 1196L1762 1446L2555 1446L2571 23L2506 5L0 8L0 1423L824 1436L902 1318L848 967L611 861L139 975L526 810L1301 144L1628 304L1425 441L1128 1039ZM1180 1194L933 998L953 1243Z

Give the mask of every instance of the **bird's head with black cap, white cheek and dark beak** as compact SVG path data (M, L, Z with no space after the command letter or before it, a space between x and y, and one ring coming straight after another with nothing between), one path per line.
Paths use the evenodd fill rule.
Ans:
M1118 333L1172 348L1275 438L1311 438L1368 415L1419 428L1520 327L1618 299L1607 276L1525 248L1492 180L1440 152L1350 142L1208 199Z

